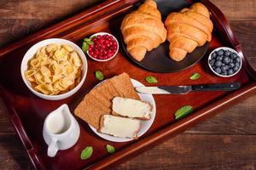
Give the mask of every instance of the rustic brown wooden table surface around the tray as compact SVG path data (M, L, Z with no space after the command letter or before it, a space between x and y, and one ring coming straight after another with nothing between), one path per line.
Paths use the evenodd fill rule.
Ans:
M0 47L100 0L0 0ZM256 69L256 0L212 0ZM256 169L256 95L114 169ZM0 100L0 169L33 169Z

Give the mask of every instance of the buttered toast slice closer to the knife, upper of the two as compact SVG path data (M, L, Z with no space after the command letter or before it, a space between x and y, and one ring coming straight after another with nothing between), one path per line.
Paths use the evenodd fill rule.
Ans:
M113 98L112 110L120 116L150 119L152 106L137 99L115 97Z

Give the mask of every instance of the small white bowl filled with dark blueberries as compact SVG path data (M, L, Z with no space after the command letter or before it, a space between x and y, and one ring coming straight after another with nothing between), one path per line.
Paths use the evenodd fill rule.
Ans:
M233 77L241 70L241 57L232 48L216 48L209 55L208 65L219 77Z

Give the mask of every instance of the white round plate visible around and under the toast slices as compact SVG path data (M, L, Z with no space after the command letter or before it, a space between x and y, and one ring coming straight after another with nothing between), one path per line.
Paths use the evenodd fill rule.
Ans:
M102 83L102 82L100 82L100 83ZM137 80L134 80L132 78L131 78L131 83L132 83L134 88L137 88L139 86L144 86L143 83L138 82ZM98 86L99 84L97 84L96 86ZM141 127L140 131L138 132L138 137L140 137L144 133L146 133L148 131L148 129L151 127L151 125L153 124L156 108L155 108L154 97L153 97L152 94L139 94L138 93L138 95L139 95L140 99L142 99L143 101L148 101L153 106L150 120L148 120L148 121L141 121L142 122L142 127ZM90 124L89 124L89 126L90 126ZM94 133L96 133L102 139L106 139L106 140L109 140L109 141L113 141L113 142L127 142L127 141L133 140L133 139L128 139L128 138L118 138L118 137L113 137L113 136L108 135L108 134L98 133L95 127L90 126L90 128L91 128L91 130Z

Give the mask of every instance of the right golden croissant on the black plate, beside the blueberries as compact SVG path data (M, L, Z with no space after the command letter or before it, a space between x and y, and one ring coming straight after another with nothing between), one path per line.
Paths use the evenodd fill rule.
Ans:
M179 13L167 16L167 40L170 42L170 57L176 61L185 58L196 47L212 39L212 20L208 9L202 3L194 3Z

